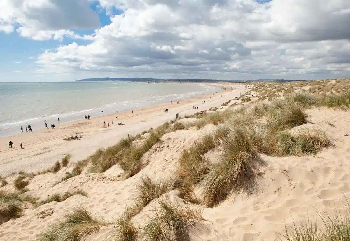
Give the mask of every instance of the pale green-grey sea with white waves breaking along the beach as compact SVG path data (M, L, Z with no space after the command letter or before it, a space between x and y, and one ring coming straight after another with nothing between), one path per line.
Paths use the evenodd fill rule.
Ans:
M0 136L55 124L211 94L204 83L22 82L0 83Z

